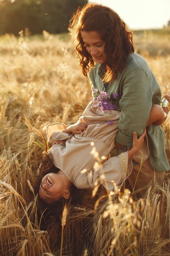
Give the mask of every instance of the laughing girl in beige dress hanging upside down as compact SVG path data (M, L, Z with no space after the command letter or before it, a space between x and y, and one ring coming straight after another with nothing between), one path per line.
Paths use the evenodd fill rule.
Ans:
M111 157L104 162L102 168L94 170L95 159L91 154L91 142L96 147L100 158L107 157L115 146L114 138L118 132L120 117L120 112L115 110L112 113L99 114L101 114L100 110L94 112L94 108L91 108L89 103L77 124L66 126L55 123L46 127L48 141L53 143L48 154L52 155L53 164L60 171L48 173L42 178L39 188L42 201L53 204L60 198L70 198L72 184L78 189L88 189L100 182L111 191L114 189L113 181L120 185L131 173L133 167L131 159L135 159L140 164L139 149L145 152L143 161L148 157L147 138L144 141L145 129L139 139L134 132L133 146L130 150ZM108 119L113 121L112 125L108 125ZM163 120L162 108L153 105L148 124L151 121L161 124Z

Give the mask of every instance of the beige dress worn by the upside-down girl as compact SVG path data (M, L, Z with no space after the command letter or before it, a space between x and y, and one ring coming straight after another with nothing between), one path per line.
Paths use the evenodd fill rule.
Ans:
M106 189L112 191L113 182L120 185L131 173L133 165L132 161L128 161L128 153L124 152L109 158L102 168L94 170L96 160L91 153L93 148L91 142L94 143L99 157L108 157L115 146L120 112L113 110L111 113L103 114L96 110L93 112L92 108L89 103L79 118L79 121L87 126L80 135L62 132L67 126L61 123L46 126L48 141L53 144L49 153L53 155L54 165L60 168L78 189L93 188L99 181ZM107 121L113 121L113 124L108 125ZM65 143L57 143L57 140L64 139L66 139ZM144 158L147 157L148 154L145 154ZM140 162L139 153L135 155L135 161Z

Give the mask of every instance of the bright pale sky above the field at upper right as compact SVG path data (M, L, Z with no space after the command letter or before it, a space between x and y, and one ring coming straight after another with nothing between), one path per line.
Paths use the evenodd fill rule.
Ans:
M126 22L130 29L163 28L170 20L170 0L89 0L104 4Z

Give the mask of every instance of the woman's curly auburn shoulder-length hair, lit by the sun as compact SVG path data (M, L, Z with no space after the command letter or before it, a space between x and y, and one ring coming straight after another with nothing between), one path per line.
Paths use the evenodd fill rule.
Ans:
M84 76L95 66L95 61L84 45L81 31L97 31L105 42L106 72L104 83L112 83L118 72L124 68L126 58L134 52L132 32L119 15L102 4L89 3L77 12L70 20L69 30L75 43L77 58L82 66Z

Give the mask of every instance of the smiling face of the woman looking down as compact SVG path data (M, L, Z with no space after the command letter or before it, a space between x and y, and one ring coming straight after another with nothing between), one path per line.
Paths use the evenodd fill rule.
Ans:
M106 59L104 51L105 42L101 39L99 32L82 31L81 35L88 53L91 54L97 63L104 63Z

